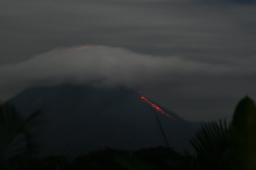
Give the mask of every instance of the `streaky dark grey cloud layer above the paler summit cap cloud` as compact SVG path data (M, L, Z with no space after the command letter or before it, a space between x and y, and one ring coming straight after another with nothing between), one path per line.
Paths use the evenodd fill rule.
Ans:
M2 4L2 63L79 44L215 62L255 54L255 5L30 0Z

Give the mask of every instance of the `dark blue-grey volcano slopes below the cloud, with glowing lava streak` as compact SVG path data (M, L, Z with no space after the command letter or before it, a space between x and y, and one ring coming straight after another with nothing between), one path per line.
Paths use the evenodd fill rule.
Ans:
M59 85L26 89L11 102L24 117L41 108L35 141L39 155L80 155L106 147L141 149L165 146L158 116L169 146L188 149L189 138L202 122L189 122L161 107L171 118L156 112L127 88Z

